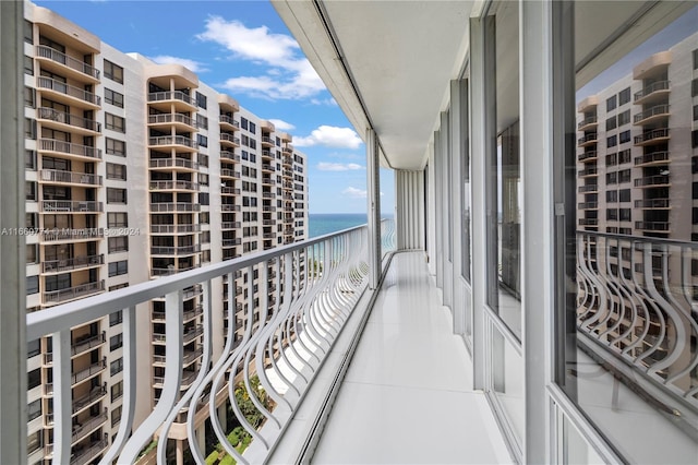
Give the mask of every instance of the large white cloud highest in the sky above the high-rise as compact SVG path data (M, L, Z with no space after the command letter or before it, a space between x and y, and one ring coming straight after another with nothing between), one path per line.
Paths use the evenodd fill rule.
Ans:
M249 28L239 21L210 16L206 29L196 36L221 45L234 58L268 67L265 75L231 78L222 87L268 99L301 99L325 90L325 84L300 53L290 36L269 32L266 26Z

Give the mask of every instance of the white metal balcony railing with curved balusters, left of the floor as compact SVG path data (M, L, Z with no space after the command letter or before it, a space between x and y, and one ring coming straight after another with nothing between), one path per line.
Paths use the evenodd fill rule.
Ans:
M26 337L35 339L45 335L53 336L53 345L61 346L63 337L70 337L70 329L84 325L86 322L105 318L113 312L123 311L123 345L124 345L124 414L121 418L121 431L115 438L112 448L107 452L104 460L110 463L115 460L125 463L132 463L143 446L149 442L153 434L159 429L160 434L167 436L168 430L182 408L193 403L197 405L200 400L212 386L214 392L219 392L221 384L228 379L244 379L249 383L251 373L243 369L243 366L251 363L256 366L255 372L260 377L261 384L264 386L268 395L274 398L277 408L291 408L298 406L299 397L292 393L304 392L310 378L302 377L293 381L287 378L287 373L278 371L278 363L281 358L290 356L291 351L304 347L303 350L310 350L313 354L310 360L305 360L306 373L315 373L320 367L320 362L327 354L329 345L335 339L344 322L349 317L353 306L368 285L368 229L360 226L344 231L326 235L302 242L294 242L280 246L263 252L245 254L239 259L222 261L209 264L201 269L178 273L172 276L163 276L133 286L110 291L100 296L88 297L85 299L72 301L62 306L57 306L33 312L26 315ZM305 265L309 260L322 262L323 273L311 274L309 266ZM250 293L245 300L245 305L241 311L246 312L244 318L245 326L241 341L233 344L233 327L228 329L228 337L225 338L230 347L214 350L213 344L218 341L214 337L214 329L209 317L212 311L212 299L204 298L204 315L203 325L193 326L186 335L182 334L182 313L172 311L179 303L180 297L186 298L188 289L194 291L210 293L212 282L221 279L222 276L236 276L241 271L252 271L252 267L260 269L260 290L255 297L254 293ZM273 282L267 281L266 276L269 266L273 269ZM267 286L280 289L282 285L284 294L280 298L269 297L269 288ZM246 285L245 285L246 286ZM278 293L278 290L277 290ZM160 299L165 296L166 303L166 367L164 379L164 391L160 395L159 404L156 409L146 418L140 427L132 430L133 416L129 414L127 403L135 402L135 377L127 377L130 370L134 369L135 363L135 333L132 332L129 321L135 318L136 306L141 302L148 302L153 299ZM242 297L242 295L240 295ZM257 305L254 299L258 298ZM215 299L214 299L215 300ZM220 299L218 299L220 300ZM312 302L316 302L312 305ZM174 306L174 307L173 307ZM237 305L230 306L228 318L233 314ZM261 312L261 313L260 313ZM252 326L252 322L258 320ZM278 335L284 339L267 339L267 335ZM200 363L202 371L191 374L192 385L183 393L181 401L178 401L181 385L181 347L186 338L202 337L202 346L204 347L204 359ZM272 351L267 354L267 342L270 342ZM129 356L129 350L131 355ZM212 359L210 354L224 354L219 359ZM288 354L286 354L288 353ZM68 357L70 353L62 351L55 354L53 366L69 363ZM244 361L243 361L244 360ZM287 394L275 391L265 375L265 363L272 363L268 369L277 371L277 375L289 381L292 386ZM96 363L94 367L85 371L81 371L76 375L86 379L89 373L94 373L106 368L106 361ZM195 378L195 379L194 379ZM59 380L60 381L60 380ZM188 382L189 382L188 381ZM249 384L248 384L249 385ZM55 405L63 405L69 402L71 395L70 380L65 384L65 380L55 382L53 402ZM68 396L68 397L67 397ZM255 396L253 402L256 401ZM260 439L256 429L241 416L239 407L234 398L231 401L234 415L238 421L248 432L255 439ZM165 408L161 406L166 406ZM281 407L284 406L284 407ZM215 407L215 406L214 406ZM257 406L267 422L287 421L275 417L275 413L263 405ZM68 407L70 408L70 407ZM194 428L194 413L196 408L190 408L188 417L188 428ZM132 410L131 410L132 412ZM56 425L56 430L70 431L70 421L57 417L57 421L63 421L62 425ZM210 418L213 428L217 436L222 434L217 417ZM127 434L132 431L131 434ZM277 430L278 432L278 430ZM267 438L268 439L268 438ZM278 440L278 434L276 439ZM266 441L266 440L265 440ZM53 444L53 456L60 461L70 454L70 438L59 437L59 441ZM221 440L222 442L222 440ZM163 446L166 441L163 442ZM227 442L226 442L227 443ZM195 438L190 440L190 448L195 457L200 460L203 452L198 450ZM237 451L226 451L236 458L240 458ZM118 452L120 451L120 452ZM158 456L164 457L165 450L158 450Z

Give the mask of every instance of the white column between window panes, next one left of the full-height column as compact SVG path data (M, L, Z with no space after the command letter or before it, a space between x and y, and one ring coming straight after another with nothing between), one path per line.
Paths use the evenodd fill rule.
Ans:
M471 103L471 189L472 189L472 362L473 388L485 383L485 324L484 306L488 291L486 276L486 151L488 134L494 118L494 17L470 20L470 103Z

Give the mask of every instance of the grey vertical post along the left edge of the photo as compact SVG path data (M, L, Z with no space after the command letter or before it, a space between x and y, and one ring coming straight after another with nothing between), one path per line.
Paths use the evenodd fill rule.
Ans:
M0 2L0 226L25 226L22 60L24 3ZM0 240L0 463L26 462L26 278L24 237Z

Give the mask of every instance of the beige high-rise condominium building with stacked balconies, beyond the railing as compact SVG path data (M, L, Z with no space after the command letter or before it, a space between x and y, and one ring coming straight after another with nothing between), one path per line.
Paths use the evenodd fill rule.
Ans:
M45 8L26 3L24 37L27 311L308 237L306 158L291 135L186 68L123 53ZM213 289L220 339L228 307L242 319L257 293L246 282ZM202 288L182 305L185 390L202 359ZM144 418L163 388L165 299L141 307ZM71 331L71 463L98 458L118 431L122 324L116 314ZM32 464L52 456L51 354L50 337L28 343Z

